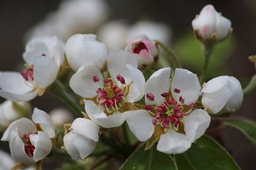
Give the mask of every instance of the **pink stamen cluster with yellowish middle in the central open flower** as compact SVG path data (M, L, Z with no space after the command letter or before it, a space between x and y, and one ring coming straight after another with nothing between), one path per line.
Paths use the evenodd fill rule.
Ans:
M100 81L97 76L92 77L94 82ZM125 97L129 92L129 85L125 84L124 77L117 75L117 81L122 85L119 86L115 81L110 79L104 80L104 86L97 89L97 103L106 109L107 113L118 111L119 107L125 103Z

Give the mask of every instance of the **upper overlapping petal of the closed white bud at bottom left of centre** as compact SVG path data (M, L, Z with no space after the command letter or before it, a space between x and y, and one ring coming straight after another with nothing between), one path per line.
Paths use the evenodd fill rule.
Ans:
M78 134L97 142L99 140L99 126L92 122L92 120L85 118L76 118L72 125L71 129L77 132Z

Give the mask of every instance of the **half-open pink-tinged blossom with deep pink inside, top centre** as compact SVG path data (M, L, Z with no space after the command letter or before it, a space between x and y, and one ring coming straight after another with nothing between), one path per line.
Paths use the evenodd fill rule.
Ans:
M136 55L140 68L152 64L159 55L154 42L149 40L144 34L135 35L127 40L127 47L125 47L125 50Z

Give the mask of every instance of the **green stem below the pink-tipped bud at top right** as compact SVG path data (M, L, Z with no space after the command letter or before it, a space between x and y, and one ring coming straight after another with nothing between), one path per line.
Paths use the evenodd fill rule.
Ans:
M203 50L203 70L202 70L202 75L201 75L201 83L206 81L206 76L207 76L207 69L209 66L209 61L210 61L210 55L213 53L213 45L202 45L202 50Z

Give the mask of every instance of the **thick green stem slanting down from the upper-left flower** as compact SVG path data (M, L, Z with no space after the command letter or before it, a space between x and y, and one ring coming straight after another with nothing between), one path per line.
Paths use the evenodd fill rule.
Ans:
M49 91L54 96L58 96L63 102L67 103L70 108L75 111L77 116L82 116L80 106L75 102L72 96L65 90L63 84L56 80L49 88Z

